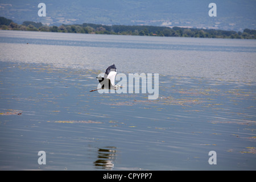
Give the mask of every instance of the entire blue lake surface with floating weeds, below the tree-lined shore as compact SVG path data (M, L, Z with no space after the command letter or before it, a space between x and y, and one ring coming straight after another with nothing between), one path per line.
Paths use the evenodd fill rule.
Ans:
M256 40L0 31L0 53L2 170L256 169ZM90 93L113 63L159 98Z

